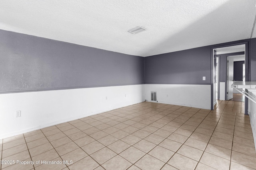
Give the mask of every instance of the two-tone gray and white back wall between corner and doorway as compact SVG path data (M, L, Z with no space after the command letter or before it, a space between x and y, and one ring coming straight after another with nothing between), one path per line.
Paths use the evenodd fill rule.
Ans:
M146 100L156 91L160 103L210 109L210 60L209 47L146 57Z

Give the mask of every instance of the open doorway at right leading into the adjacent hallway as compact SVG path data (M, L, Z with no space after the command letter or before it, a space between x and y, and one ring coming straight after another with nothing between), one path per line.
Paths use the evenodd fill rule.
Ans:
M248 79L247 45L240 43L212 48L212 109L218 100L246 102L246 98L231 86L236 81Z

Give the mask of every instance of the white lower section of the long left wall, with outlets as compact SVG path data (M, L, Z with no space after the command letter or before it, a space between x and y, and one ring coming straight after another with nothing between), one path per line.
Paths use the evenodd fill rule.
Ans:
M144 102L144 86L0 94L0 139Z

